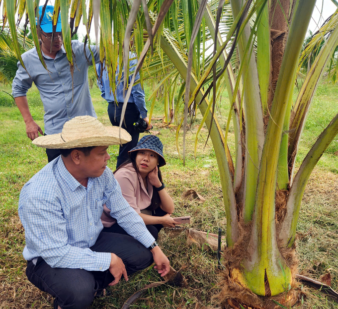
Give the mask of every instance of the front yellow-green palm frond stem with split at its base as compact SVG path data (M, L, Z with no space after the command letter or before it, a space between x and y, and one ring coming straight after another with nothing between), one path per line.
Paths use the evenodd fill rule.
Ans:
M271 116L267 126L261 164L258 175L252 234L249 243L250 259L244 261L245 276L251 289L258 295L265 295L265 281L268 281L271 296L285 290L281 284L291 280L291 271L280 254L275 228L275 191L278 156L282 137L287 100L296 76L296 69L302 48L306 27L310 21L316 0L300 0L295 18L291 24L286 43Z

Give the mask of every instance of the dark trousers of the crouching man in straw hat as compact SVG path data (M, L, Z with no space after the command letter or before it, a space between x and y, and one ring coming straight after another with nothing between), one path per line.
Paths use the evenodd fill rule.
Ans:
M101 232L95 245L96 252L111 252L119 256L130 275L153 263L153 254L134 238L115 233ZM54 306L62 309L85 309L93 301L95 293L108 286L114 278L109 272L84 269L52 268L42 257L36 265L27 262L28 280L40 290L56 298ZM123 280L123 279L122 279Z

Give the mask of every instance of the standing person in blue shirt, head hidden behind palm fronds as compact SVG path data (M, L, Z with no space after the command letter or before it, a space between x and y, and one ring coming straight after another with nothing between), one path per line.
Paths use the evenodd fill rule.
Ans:
M135 66L137 64L136 55L133 53L129 53L129 82L132 79L132 75L135 70ZM109 85L109 77L107 69L104 68L102 70L102 77L98 80L97 85L100 88L102 94L102 98L108 102L108 116L109 120L112 125L120 125L121 121L121 113L122 107L124 102L123 97L123 80L124 80L124 73L122 71L122 77L118 80L119 75L119 64L117 64L116 69L116 91L115 96L117 102L115 102L114 94L110 90ZM123 68L122 68L123 70ZM100 76L101 74L101 64L96 64L96 71L97 75ZM137 73L135 82L140 79L140 74ZM131 141L124 145L120 145L119 148L119 155L117 157L116 168L118 168L122 163L124 163L128 158L128 151L132 148L136 147L140 133L138 130L134 128L134 123L137 122L140 118L144 119L145 122L148 124L147 130L152 128L152 125L149 123L149 119L147 117L147 108L145 102L145 93L141 87L140 83L134 84L131 90L130 97L128 99L128 104L126 108L126 113L124 115L124 121L122 123L122 127L127 130L127 132L131 135Z

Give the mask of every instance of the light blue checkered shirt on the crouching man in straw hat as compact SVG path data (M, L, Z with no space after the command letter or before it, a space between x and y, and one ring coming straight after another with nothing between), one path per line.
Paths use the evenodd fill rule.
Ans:
M103 229L103 204L118 224L145 247L155 239L142 218L123 198L113 173L106 168L98 178L81 185L59 156L34 175L22 188L19 217L25 229L23 257L41 256L51 267L109 268L111 254L89 249Z

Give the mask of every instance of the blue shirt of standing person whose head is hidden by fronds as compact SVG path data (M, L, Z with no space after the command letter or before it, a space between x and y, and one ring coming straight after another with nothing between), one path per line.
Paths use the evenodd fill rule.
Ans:
M137 59L136 59L136 55L129 52L129 72L131 75L129 75L129 82L128 84L130 84L130 81L132 79L132 74L135 71L135 67L137 64ZM115 82L116 82L116 100L117 102L124 102L124 96L123 96L123 80L124 80L124 72L122 72L122 76L120 81L118 80L118 74L119 74L119 69L120 69L120 65L117 63L117 68L116 68L116 74L115 74ZM97 63L96 64L96 71L97 71L97 75L100 76L101 73L101 63ZM140 79L140 73L136 74L135 77L135 82L137 80ZM114 102L114 94L110 91L110 85L109 85L109 77L108 77L108 71L106 68L104 68L103 72L102 72L102 77L101 79L97 82L98 87L101 90L101 96L103 99L105 99L108 102ZM141 87L141 84L134 84L134 86L131 88L131 93L130 93L130 97L128 99L128 103L135 103L135 105L137 106L137 109L140 112L141 118L146 118L147 117L147 108L146 108L146 101L145 101L145 94L144 91Z

